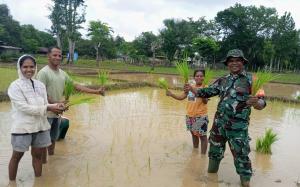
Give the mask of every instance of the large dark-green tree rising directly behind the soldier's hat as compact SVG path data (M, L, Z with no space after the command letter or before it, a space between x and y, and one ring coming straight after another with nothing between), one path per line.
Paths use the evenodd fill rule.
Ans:
M251 61L249 66L256 69L264 66L264 40L272 36L277 20L273 8L260 6L235 6L217 13L215 22L219 25L222 38L221 53L228 49L240 48Z

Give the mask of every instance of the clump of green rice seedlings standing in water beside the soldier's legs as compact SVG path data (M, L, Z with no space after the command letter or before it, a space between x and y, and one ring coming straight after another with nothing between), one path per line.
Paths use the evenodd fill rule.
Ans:
M272 154L271 146L277 140L277 134L272 129L266 129L265 135L256 140L256 151L264 154Z

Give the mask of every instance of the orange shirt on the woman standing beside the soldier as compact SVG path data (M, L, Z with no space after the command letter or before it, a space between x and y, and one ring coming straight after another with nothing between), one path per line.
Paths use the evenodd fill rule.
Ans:
M204 86L193 85L194 88L204 88ZM187 116L197 117L207 115L207 104L204 104L201 97L195 97L195 95L190 91L187 95Z

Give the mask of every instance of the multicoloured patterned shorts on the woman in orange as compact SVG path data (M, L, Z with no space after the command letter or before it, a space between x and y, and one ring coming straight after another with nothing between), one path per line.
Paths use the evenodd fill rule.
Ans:
M196 136L207 135L207 116L189 117L186 116L186 129L191 131Z

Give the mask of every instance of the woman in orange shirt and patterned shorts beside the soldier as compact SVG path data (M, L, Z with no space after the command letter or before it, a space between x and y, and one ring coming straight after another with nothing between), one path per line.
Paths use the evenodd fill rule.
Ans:
M196 82L193 87L203 88L203 80L205 77L205 70L195 70L194 80ZM199 147L199 139L201 140L201 154L206 154L207 150L207 98L196 97L191 91L183 93L182 95L175 95L167 90L166 95L177 100L188 99L187 114L186 114L186 127L192 134L194 148Z

